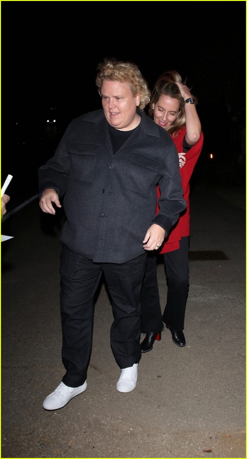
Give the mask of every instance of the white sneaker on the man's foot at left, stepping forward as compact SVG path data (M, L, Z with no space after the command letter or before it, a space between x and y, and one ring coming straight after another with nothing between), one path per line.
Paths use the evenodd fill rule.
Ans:
M73 397L76 397L76 395L84 392L84 390L86 390L86 386L86 380L84 384L79 387L69 387L63 382L60 382L54 392L51 392L51 394L44 399L43 408L45 410L58 410L59 408L63 408L71 399L73 399Z

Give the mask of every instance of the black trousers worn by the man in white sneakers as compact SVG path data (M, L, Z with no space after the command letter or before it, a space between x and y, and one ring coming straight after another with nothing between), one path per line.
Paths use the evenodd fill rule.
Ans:
M104 274L112 299L111 348L120 368L141 358L140 292L147 255L127 263L94 263L63 245L61 254L62 381L78 387L86 379L92 347L94 294Z

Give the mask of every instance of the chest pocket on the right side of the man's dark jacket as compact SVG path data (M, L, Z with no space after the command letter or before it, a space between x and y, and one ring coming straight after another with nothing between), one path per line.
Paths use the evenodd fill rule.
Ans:
M127 170L125 188L137 193L147 194L152 184L160 179L161 167L158 161L146 156L136 155Z

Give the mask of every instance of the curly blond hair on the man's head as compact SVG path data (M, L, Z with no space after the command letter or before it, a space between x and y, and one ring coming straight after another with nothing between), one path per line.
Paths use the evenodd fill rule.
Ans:
M151 91L136 64L118 61L115 58L106 58L104 62L98 64L97 70L95 83L100 96L104 80L119 81L120 83L127 83L134 96L137 94L140 96L138 110L143 111L150 102Z

